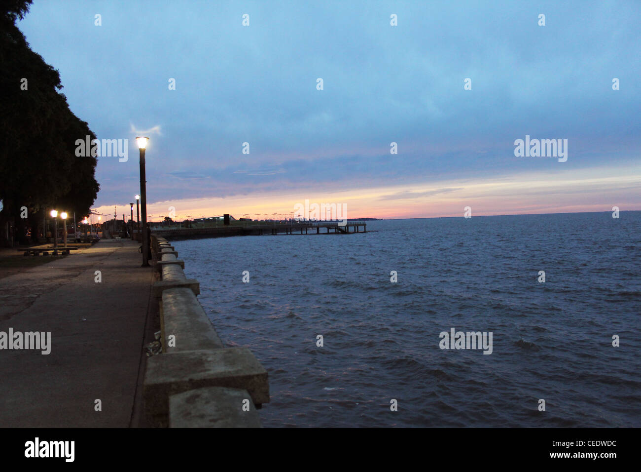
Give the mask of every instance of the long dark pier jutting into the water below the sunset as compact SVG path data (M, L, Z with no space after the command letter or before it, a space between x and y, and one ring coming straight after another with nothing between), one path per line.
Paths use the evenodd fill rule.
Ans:
M229 225L153 228L154 236L169 239L263 236L270 234L352 234L367 232L367 222L233 222Z

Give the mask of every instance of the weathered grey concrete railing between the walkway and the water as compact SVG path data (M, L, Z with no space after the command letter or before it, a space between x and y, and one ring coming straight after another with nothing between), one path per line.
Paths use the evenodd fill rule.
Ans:
M267 371L246 347L224 347L187 279L184 261L162 237L152 236L162 281L162 354L147 359L144 402L156 427L260 427L256 408L269 402Z

